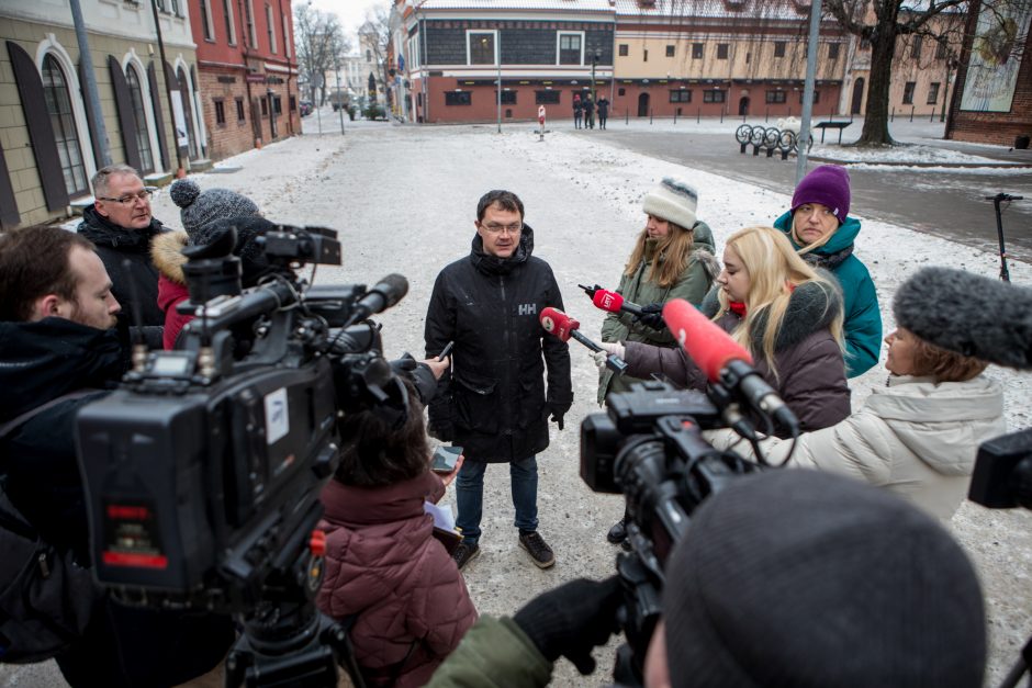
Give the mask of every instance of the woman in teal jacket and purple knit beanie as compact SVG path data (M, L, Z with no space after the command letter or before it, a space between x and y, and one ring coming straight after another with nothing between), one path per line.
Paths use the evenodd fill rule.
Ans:
M882 313L871 273L853 255L860 221L849 217L849 173L843 167L822 165L803 178L792 196L792 210L774 226L788 235L807 262L839 281L845 314L845 372L855 377L878 362Z

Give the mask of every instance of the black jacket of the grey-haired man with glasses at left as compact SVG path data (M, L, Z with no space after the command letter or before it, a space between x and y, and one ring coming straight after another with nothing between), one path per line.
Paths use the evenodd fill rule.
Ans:
M122 312L133 316L133 287L139 294L139 315L144 325L165 325L165 312L158 306L158 269L150 262L150 240L167 232L157 219L143 229L126 229L111 224L93 206L82 212L79 234L97 246L97 255L104 262L114 286L111 292L122 305ZM130 267L122 261L128 259Z

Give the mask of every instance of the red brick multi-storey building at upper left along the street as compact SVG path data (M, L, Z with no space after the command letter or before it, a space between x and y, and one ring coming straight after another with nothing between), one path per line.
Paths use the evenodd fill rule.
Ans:
M189 0L213 160L301 131L291 0Z

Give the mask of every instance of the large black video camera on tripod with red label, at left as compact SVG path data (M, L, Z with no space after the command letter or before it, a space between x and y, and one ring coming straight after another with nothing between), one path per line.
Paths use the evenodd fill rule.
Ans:
M407 282L310 286L296 270L340 264L336 233L273 227L247 291L235 229L184 249L179 309L195 317L177 349L137 352L123 385L80 413L94 572L123 601L233 613L244 635L227 685L336 685L344 661L360 686L346 632L313 601L318 495L339 463L340 414L407 414L366 320Z

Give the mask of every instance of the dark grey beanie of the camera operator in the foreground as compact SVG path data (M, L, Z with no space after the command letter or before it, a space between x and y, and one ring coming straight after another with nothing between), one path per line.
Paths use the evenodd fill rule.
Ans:
M736 478L666 562L672 685L981 686L971 562L931 517L809 470Z

